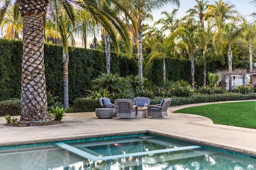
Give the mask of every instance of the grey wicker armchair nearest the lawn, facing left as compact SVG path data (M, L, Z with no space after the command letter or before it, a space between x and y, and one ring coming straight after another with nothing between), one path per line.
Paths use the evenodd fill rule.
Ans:
M148 106L148 117L154 119L165 119L168 116L167 109L172 102L171 98L163 99L161 104L150 105Z

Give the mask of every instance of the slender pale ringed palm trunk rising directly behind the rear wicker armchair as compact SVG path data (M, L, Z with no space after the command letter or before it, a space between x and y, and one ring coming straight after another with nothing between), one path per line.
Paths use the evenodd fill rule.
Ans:
M143 79L142 75L142 26L138 26L138 71L140 76L140 81Z

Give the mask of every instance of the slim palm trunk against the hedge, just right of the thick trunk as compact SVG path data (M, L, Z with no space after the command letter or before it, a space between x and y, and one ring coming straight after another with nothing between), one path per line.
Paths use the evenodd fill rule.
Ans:
M68 103L68 49L62 51L63 63L63 82L64 82L64 108L69 106Z

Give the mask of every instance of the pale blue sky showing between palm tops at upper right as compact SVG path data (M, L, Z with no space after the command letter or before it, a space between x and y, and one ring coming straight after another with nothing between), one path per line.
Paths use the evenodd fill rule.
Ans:
M208 0L210 4L215 4L215 0ZM217 0L218 2L219 0ZM253 6L253 4L249 3L252 0L224 0L224 2L227 2L228 4L234 4L236 6L236 10L240 12L242 15L246 16L248 20L251 20L252 18L248 16L252 12L256 12L256 7ZM180 8L178 8L178 12L176 15L177 19L182 18L186 15L186 10L189 8L193 8L196 5L195 0L180 0ZM164 8L161 8L160 10L157 10L153 13L154 21L157 21L159 18L164 18L164 15L161 15L162 11L167 11L169 13L172 12L174 8L177 8L177 6L168 5Z

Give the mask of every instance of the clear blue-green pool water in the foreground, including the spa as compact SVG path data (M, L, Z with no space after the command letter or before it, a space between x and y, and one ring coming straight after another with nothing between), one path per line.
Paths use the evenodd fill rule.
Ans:
M256 170L256 158L140 134L2 147L0 170Z

